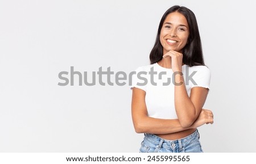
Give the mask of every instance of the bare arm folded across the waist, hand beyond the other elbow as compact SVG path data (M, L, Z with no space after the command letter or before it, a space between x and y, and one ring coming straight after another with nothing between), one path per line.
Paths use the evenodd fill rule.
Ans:
M190 127L183 128L178 119L155 119L147 116L145 103L146 92L133 87L131 114L137 133L170 134L199 127L205 123L213 123L213 115L209 110L201 112L199 119Z

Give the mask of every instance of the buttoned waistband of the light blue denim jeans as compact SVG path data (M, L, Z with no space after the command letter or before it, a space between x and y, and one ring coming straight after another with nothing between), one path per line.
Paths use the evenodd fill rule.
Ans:
M157 145L158 148L181 149L195 140L199 140L199 132L197 129L189 136L177 140L165 140L155 134L144 133L144 141L151 142L152 144Z

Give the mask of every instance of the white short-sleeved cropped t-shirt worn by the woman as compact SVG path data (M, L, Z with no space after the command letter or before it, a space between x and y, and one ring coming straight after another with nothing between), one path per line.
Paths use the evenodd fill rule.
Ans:
M140 66L132 76L132 85L146 91L146 107L149 117L158 119L177 119L174 106L174 86L172 69L155 64ZM207 66L182 66L188 96L192 87L210 89L210 70ZM179 84L176 84L179 85Z

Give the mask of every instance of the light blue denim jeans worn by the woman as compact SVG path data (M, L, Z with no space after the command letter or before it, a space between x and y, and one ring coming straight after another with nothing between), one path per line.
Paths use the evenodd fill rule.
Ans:
M140 153L203 153L196 130L187 137L178 140L164 140L155 134L144 134Z

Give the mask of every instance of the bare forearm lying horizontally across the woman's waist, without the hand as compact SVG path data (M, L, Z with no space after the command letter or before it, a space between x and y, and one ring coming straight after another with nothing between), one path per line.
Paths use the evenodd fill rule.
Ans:
M138 121L134 121L134 128L137 133L170 134L184 131L191 127L181 127L178 119L155 119L144 116Z

